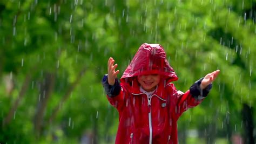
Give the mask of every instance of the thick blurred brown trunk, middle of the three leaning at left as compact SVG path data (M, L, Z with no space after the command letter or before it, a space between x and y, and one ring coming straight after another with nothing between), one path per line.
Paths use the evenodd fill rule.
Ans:
M35 126L35 132L37 136L41 134L44 111L48 104L48 100L50 98L54 85L55 85L55 74L49 74L49 73L46 74L46 77L41 86L39 102L38 102L37 111L35 114L34 126Z

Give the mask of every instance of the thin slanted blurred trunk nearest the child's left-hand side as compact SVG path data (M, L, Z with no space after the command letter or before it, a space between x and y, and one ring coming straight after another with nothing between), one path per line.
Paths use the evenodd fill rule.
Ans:
M71 92L75 89L75 87L77 86L77 84L79 83L80 79L83 77L84 73L86 71L86 68L84 67L82 69L82 71L80 71L77 79L73 82L73 84L71 84L71 86L69 87L68 91L66 91L64 97L62 97L62 99L60 100L59 104L53 109L53 112L50 116L49 122L51 123L55 118L56 115L59 111L59 108L63 105L63 103L70 97Z

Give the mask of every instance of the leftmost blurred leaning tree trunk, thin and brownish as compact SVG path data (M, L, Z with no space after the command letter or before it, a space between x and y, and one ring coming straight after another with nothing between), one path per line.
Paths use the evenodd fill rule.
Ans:
M8 112L8 115L4 118L3 125L8 125L8 124L10 124L10 122L11 122L13 116L14 116L14 113L15 113L16 110L17 110L17 107L18 107L18 105L19 105L19 102L20 102L20 101L22 100L22 98L24 97L26 90L28 90L30 79L31 79L31 74L30 74L30 73L26 74L26 78L25 78L24 83L22 84L21 91L19 91L19 96L18 96L18 98L15 100L14 105L12 105L10 111Z

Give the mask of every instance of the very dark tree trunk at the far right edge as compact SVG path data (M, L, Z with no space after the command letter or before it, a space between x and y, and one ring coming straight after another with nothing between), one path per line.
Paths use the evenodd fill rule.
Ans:
M244 124L244 141L248 144L255 144L253 139L253 109L247 104L242 105L242 122Z

